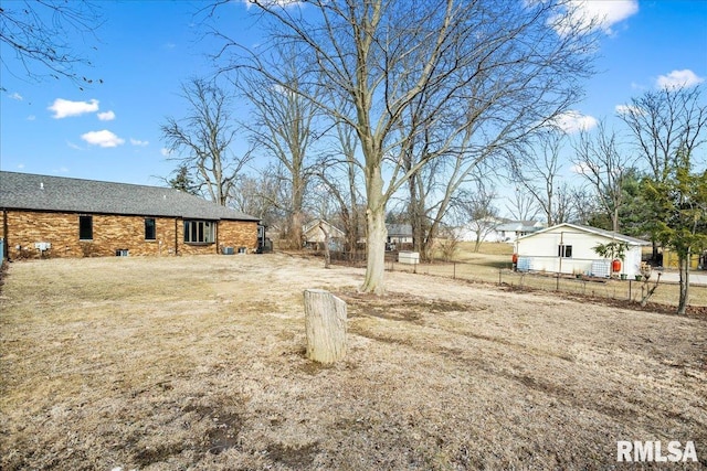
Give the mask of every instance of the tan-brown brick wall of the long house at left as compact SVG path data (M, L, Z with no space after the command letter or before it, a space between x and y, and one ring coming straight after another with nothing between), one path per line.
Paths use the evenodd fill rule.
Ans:
M249 249L257 246L255 222L221 221L217 227L218 245L184 244L180 218L155 217L155 240L146 240L145 217L99 214L92 215L93 239L80 240L78 216L74 213L3 212L2 237L8 243L8 257L39 258L40 251L34 247L38 242L52 245L44 254L49 257L115 256L118 249L127 249L130 256L175 255L175 251L180 255L217 254L219 246Z

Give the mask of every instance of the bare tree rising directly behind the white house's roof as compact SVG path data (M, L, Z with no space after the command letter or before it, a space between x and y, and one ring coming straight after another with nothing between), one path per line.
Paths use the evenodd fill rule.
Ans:
M594 190L594 196L611 218L612 229L619 232L619 212L625 204L624 181L635 159L619 151L616 132L599 122L594 135L583 130L573 143L574 167Z

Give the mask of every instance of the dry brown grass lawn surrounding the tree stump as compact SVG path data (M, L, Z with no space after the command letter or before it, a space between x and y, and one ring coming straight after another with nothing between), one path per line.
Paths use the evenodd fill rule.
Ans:
M387 277L376 298L283 255L12 264L0 467L613 469L616 440L694 440L704 467L704 320ZM305 288L349 303L331 367L304 357Z

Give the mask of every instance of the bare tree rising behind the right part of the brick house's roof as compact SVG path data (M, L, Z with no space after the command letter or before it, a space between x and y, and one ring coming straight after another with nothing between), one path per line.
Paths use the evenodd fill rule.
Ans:
M192 78L182 85L188 103L187 117L167 118L160 129L170 152L169 160L189 170L199 191L222 206L244 165L253 158L247 151L234 156L230 149L235 139L231 119L232 97L215 82Z

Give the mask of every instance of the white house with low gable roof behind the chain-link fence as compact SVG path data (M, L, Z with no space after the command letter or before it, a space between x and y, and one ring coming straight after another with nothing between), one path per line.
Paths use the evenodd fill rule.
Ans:
M611 261L600 257L594 247L611 242L626 243L620 274L629 278L641 274L641 247L650 242L597 227L558 224L521 236L516 242L519 271L583 274L595 277L611 275Z

